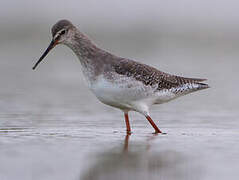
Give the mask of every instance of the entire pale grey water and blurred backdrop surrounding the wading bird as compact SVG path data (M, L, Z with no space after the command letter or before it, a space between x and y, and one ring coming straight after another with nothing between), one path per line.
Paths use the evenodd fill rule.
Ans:
M238 1L1 1L0 179L237 179ZM100 47L212 88L155 106L154 137L87 89L70 49L31 67L69 19ZM103 154L102 154L103 153ZM124 157L122 157L124 156Z

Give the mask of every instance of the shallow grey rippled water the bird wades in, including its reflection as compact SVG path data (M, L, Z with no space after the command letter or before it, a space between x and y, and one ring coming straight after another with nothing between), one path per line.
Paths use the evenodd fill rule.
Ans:
M88 91L70 50L57 47L31 70L48 40L1 44L1 180L237 179L237 43L200 44L169 36L153 41L152 49L106 40L102 47L122 56L166 72L208 78L212 87L152 108L152 118L166 135L153 135L147 120L132 112L133 134L126 136L122 112L102 105Z

